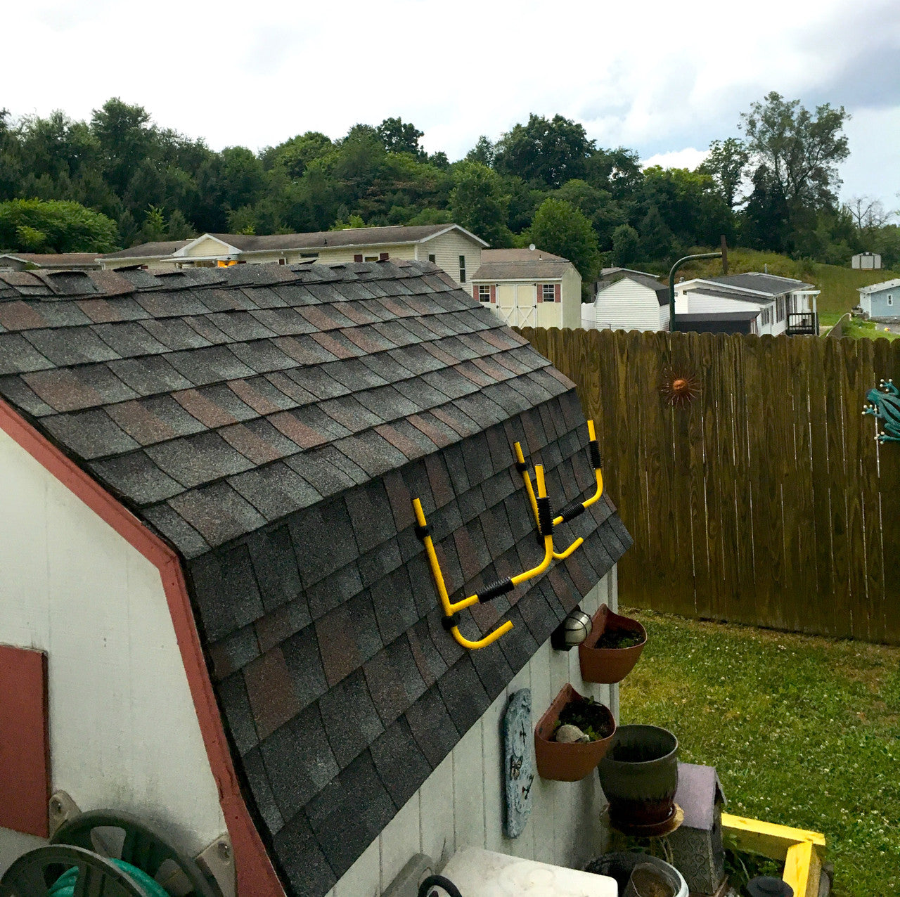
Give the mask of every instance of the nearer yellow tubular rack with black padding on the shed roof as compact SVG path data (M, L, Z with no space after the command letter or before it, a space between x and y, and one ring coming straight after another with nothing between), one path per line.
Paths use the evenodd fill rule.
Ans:
M540 532L541 538L544 540L543 560L531 570L525 570L522 573L518 573L517 576L508 577L507 579L500 579L487 588L483 588L481 592L463 598L462 601L457 601L455 604L450 601L450 597L447 595L444 575L441 573L441 567L437 561L437 552L435 552L435 545L428 532L428 521L425 519L422 503L419 501L419 498L413 498L412 500L412 508L416 515L416 534L419 536L419 539L425 543L425 552L428 554L428 564L431 567L431 575L435 579L437 594L440 596L441 606L444 609L444 619L442 621L444 628L447 632L450 632L455 640L464 648L470 650L487 648L488 645L497 641L501 635L509 632L509 630L513 628L513 624L507 620L505 623L498 626L497 629L493 630L493 632L489 632L483 639L471 641L459 631L460 611L464 610L466 607L483 604L485 601L491 601L493 598L505 595L507 592L511 592L514 588L521 583L526 582L528 579L534 579L536 576L540 576L540 574L550 566L554 559L554 517L553 511L550 509L550 499L547 498L543 465L536 465L535 477L537 480L537 496L535 497L533 492L531 495L532 501L534 502L533 507L535 507L538 531ZM529 487L531 486L530 477L528 479L528 485Z

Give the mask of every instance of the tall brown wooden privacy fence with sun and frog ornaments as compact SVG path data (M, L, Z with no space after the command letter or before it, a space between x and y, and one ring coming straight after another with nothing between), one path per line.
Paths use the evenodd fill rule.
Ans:
M861 414L900 340L520 332L597 423L624 603L900 643L900 444ZM697 398L672 407L667 375Z

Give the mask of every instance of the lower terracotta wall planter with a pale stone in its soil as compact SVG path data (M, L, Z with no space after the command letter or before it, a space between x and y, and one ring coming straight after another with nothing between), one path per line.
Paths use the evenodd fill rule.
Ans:
M577 727L590 740L557 741L563 726L569 731ZM615 732L616 720L609 708L579 695L567 682L535 728L538 775L556 782L578 782L590 776L607 752Z

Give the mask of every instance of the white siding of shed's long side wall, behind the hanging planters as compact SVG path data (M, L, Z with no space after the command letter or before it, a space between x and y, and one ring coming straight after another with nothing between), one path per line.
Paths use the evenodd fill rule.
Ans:
M616 569L581 602L593 614L602 602L617 609ZM545 641L481 720L466 732L427 781L374 840L329 897L378 897L417 853L437 869L467 845L557 866L581 866L606 847L600 813L605 805L596 775L581 782L535 780L535 803L518 839L503 835L501 725L509 695L531 688L536 723L566 682L608 704L618 717L618 686L581 680L578 650L555 651Z

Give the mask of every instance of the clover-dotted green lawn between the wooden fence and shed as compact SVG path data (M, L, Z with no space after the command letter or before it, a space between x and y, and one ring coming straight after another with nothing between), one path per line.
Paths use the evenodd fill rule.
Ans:
M675 732L728 812L824 833L835 894L900 895L900 648L650 611L621 722Z

